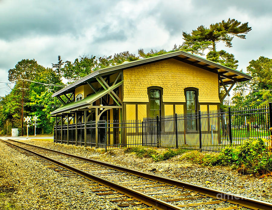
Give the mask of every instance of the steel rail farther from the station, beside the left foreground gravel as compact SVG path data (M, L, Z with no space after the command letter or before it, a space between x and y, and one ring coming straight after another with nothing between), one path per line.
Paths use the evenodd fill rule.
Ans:
M68 164L59 162L57 160L46 157L46 156L41 155L39 153L33 152L33 151L28 150L28 149L26 149L24 147L20 147L20 146L18 146L16 144L12 144L12 143L10 143L8 141L5 141L5 140L2 140L2 139L1 139L1 141L4 141L4 142L6 142L8 144L11 144L11 145L13 145L15 147L18 147L21 150L25 150L25 151L27 151L29 153L32 153L32 154L34 154L34 155L36 155L38 157L41 157L41 158L43 158L45 160L48 160L51 163L55 163L55 164L57 164L59 166L62 166L63 168L66 168L66 169L68 169L70 171L73 171L74 173L79 174L80 176L83 176L86 179L96 181L96 182L98 182L98 183L100 183L102 185L105 185L105 186L107 186L107 187L109 187L109 188L111 188L111 189L113 189L115 191L118 191L118 192L122 193L122 194L125 193L126 195L128 195L130 197L133 197L136 200L140 200L143 204L146 204L148 206L156 206L157 209L161 209L161 210L183 210L183 208L180 208L178 206L175 206L175 205L172 205L170 203L164 202L164 201L162 201L160 199L156 199L156 198L154 198L152 196L149 196L149 195L146 195L144 193L138 192L138 191L136 191L134 189L119 185L119 184L114 183L112 181L109 181L107 179L103 179L103 178L101 178L99 176L95 176L95 175L93 175L91 173L87 173L87 172L85 172L83 170L77 169L77 168L75 168L73 166L70 166ZM31 144L29 144L29 145L31 145ZM33 146L33 145L31 145L31 146Z

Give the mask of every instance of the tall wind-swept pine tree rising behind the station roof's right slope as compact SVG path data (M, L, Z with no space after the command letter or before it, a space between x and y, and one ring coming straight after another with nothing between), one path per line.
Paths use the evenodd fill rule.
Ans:
M209 50L207 59L221 63L225 66L237 68L238 61L234 55L225 50L216 50L216 44L219 42L225 43L226 47L232 47L232 40L236 36L245 39L245 34L251 31L248 23L243 23L228 19L222 20L220 23L211 24L209 28L203 25L199 26L192 33L183 31L183 39L185 40L181 46L182 50L189 51L195 54L204 55L205 50Z

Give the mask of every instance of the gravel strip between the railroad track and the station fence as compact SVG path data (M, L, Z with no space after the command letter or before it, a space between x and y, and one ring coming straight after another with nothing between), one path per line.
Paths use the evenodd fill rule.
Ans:
M272 202L271 176L260 179L259 177L241 175L229 167L202 167L186 160L180 161L179 156L166 161L153 162L150 158L138 158L135 154L124 153L122 149L111 150L101 155L87 150L75 150L60 145L53 145L53 143L47 141L24 142L154 173L160 176L179 179L249 198Z

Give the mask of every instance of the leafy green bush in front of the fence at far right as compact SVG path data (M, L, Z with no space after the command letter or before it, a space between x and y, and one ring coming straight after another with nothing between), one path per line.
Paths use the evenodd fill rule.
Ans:
M264 174L272 171L272 154L261 138L244 141L236 148L227 147L220 153L190 151L182 158L205 166L232 166L240 173Z

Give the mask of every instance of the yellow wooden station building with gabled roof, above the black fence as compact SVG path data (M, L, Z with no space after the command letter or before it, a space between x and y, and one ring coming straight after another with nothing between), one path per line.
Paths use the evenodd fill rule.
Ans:
M73 118L73 124L97 124L217 110L236 82L250 79L235 69L176 51L96 70L54 93L63 106L51 114L68 122ZM219 98L221 88L226 93ZM96 139L97 135L98 128Z

